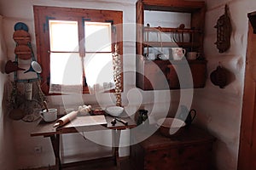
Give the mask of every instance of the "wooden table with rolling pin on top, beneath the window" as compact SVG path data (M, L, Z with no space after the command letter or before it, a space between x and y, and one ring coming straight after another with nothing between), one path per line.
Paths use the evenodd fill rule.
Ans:
M78 116L82 118L83 116ZM128 125L124 125L121 122L116 122L113 126L111 121L113 116L105 116L107 123L102 125L90 125L90 126L73 126L72 122L67 123L63 127L53 127L55 122L44 122L43 120L38 123L37 129L35 132L31 133L31 136L43 136L50 138L54 154L55 154L55 169L61 169L61 150L60 150L60 135L63 133L79 133L79 132L90 132L98 130L112 129L112 139L113 139L113 157L116 164L119 166L119 139L120 139L120 130L126 128L136 127L137 124L125 113L121 115L121 119L125 122L128 122Z

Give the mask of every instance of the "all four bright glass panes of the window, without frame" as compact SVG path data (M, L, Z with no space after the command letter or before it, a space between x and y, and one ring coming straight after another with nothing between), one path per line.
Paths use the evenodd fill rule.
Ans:
M50 83L82 85L84 69L90 88L106 83L109 87L113 84L111 23L84 22L85 56L79 53L78 30L77 21L49 21Z

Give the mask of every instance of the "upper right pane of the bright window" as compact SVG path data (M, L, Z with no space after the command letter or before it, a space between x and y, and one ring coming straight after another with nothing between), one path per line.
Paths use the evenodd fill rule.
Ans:
M111 52L111 23L84 22L85 51Z

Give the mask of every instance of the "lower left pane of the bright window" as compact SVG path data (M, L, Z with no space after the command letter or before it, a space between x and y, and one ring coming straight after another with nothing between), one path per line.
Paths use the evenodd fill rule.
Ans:
M50 83L79 85L83 83L82 61L77 53L50 54Z

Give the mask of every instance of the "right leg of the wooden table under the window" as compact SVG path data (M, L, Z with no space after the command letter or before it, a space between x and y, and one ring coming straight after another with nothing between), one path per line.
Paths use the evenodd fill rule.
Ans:
M118 168L120 167L120 162L119 162L120 134L121 134L120 130L112 130L113 156L114 156L114 162Z

